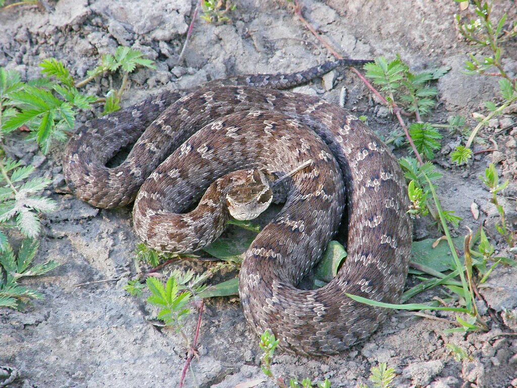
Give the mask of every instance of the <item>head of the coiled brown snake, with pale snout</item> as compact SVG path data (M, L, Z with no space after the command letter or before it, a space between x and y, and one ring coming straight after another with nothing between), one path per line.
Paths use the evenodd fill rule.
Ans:
M258 217L270 205L273 192L261 170L241 170L232 174L227 187L226 206L239 221Z

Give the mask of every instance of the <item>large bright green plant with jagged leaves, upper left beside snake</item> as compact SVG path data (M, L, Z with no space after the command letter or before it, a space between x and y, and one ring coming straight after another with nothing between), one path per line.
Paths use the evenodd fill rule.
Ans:
M101 65L88 72L88 78L77 84L70 71L54 58L45 59L41 64L42 79L20 82L17 73L0 68L0 130L8 133L21 126L31 132L43 153L47 153L53 139L64 141L65 132L73 128L78 110L92 107L99 99L83 95L78 88L86 85L105 72L123 72L123 80L117 92L111 92L105 99L104 114L114 112L119 107L120 97L127 86L129 73L136 66L153 68L142 53L128 47L118 47L115 55L104 55ZM3 111L3 106L7 109Z

